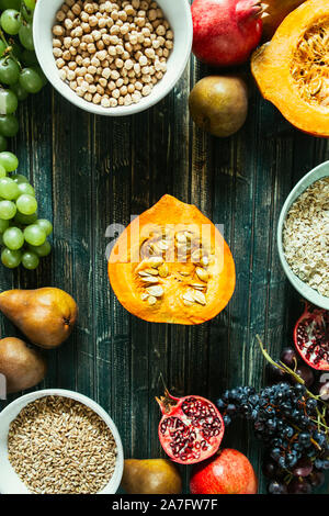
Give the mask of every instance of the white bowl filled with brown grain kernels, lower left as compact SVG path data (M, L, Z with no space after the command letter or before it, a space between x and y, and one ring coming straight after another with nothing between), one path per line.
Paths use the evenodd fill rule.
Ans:
M0 413L0 493L114 494L123 474L117 428L94 401L47 389Z

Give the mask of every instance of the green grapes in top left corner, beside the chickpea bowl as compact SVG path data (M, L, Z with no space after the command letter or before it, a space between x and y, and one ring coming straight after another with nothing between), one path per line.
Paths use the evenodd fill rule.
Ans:
M19 131L19 102L47 82L34 52L34 8L35 0L0 0L0 152Z

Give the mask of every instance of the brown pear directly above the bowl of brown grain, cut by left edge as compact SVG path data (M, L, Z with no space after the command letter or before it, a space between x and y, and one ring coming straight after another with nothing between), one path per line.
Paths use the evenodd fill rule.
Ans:
M42 355L20 338L0 340L0 373L5 377L8 393L37 385L45 378L46 369Z

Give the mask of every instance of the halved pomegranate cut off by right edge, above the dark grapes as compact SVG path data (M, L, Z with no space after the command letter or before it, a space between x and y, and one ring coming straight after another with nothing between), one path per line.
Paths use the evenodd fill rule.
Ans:
M294 341L305 362L319 371L329 370L329 311L305 303L298 318Z

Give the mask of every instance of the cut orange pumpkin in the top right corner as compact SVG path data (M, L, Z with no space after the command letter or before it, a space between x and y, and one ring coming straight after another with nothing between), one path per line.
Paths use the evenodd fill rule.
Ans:
M262 96L299 130L329 136L329 1L307 0L273 40L258 48L251 70Z

